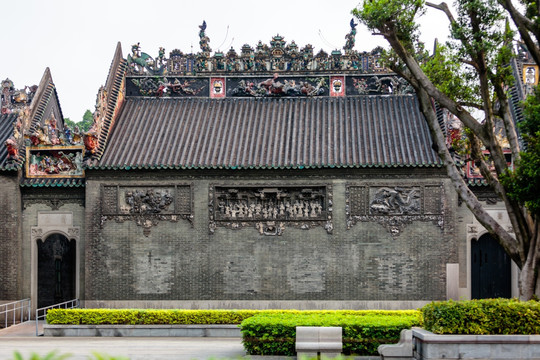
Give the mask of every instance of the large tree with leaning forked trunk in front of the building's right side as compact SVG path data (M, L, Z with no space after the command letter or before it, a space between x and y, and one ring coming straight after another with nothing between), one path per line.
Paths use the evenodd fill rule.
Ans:
M520 268L520 298L528 300L540 293L540 222L538 211L531 207L527 196L518 194L517 190L523 190L529 198L533 194L538 196L538 192L531 192L534 186L522 189L518 179L527 181L525 179L531 178L526 176L532 176L538 183L539 167L536 165L537 172L534 173L534 169L529 169L526 164L539 163L540 149L538 142L531 141L528 151L522 153L507 92L507 84L514 81L508 64L515 36L506 23L508 14L519 28L534 59L540 63L538 7L535 1L523 2L525 11L520 13L511 0L456 0L454 10L450 10L446 3L433 4L424 0L363 0L353 14L390 44L391 49L383 57L385 66L408 80L416 90L434 148L456 191ZM434 56L428 56L418 41L417 20L425 14L428 6L446 14L452 37L446 44L438 46ZM467 154L504 202L514 234L486 211L462 178L437 121L433 100L464 125ZM509 169L505 159L496 131L497 124L502 124L505 130L516 164L515 172ZM489 151L489 160L482 149ZM495 174L490 170L489 161Z

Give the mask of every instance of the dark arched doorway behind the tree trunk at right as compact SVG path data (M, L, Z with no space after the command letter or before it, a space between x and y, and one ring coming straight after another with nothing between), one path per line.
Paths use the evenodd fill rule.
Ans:
M489 234L471 242L471 297L512 297L511 260Z

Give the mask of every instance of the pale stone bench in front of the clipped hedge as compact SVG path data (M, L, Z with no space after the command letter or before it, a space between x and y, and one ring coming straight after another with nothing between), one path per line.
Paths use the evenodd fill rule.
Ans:
M319 354L325 357L336 357L343 350L341 327L296 327L296 353L298 356L316 358Z

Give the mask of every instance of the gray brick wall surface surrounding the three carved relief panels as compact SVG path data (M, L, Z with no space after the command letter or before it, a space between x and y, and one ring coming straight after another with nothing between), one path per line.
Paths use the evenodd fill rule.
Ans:
M346 184L443 184L444 228L414 221L398 237L374 222L347 230ZM101 185L190 183L193 226L159 221L145 236L135 221L102 221ZM332 234L322 226L208 231L210 185L331 185ZM446 264L458 262L457 200L440 170L89 172L86 187L86 300L437 300ZM458 224L459 227L459 224Z

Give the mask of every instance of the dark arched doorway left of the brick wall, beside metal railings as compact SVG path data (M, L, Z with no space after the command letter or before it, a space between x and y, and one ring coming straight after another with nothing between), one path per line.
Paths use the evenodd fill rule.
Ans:
M37 240L38 308L75 298L76 242L62 234Z

